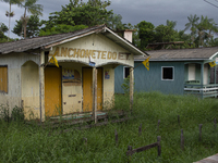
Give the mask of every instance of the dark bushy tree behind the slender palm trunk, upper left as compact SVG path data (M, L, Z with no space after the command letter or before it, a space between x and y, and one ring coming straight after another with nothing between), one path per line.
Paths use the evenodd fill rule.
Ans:
M38 15L31 15L26 24L26 37L36 37L39 35L41 23ZM16 21L16 24L12 30L17 36L24 37L23 33L23 22L22 20Z

